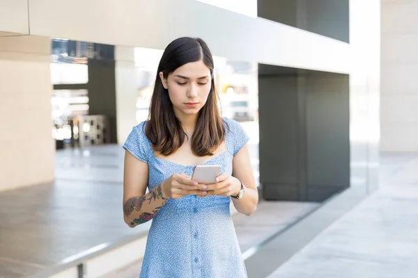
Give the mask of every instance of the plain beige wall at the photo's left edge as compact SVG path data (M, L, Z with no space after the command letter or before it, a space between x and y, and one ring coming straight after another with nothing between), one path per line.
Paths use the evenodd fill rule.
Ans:
M0 38L0 191L54 180L50 40Z

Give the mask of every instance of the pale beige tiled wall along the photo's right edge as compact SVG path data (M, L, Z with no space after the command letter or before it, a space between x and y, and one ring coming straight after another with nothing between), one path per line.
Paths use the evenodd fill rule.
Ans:
M382 0L381 149L418 152L418 1Z

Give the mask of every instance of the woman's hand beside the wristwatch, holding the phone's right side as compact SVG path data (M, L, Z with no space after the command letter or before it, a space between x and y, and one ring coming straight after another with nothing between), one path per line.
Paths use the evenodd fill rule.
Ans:
M241 182L228 173L222 173L216 178L216 183L208 184L207 187L206 195L200 197L212 195L229 197L231 195L238 195L241 189Z

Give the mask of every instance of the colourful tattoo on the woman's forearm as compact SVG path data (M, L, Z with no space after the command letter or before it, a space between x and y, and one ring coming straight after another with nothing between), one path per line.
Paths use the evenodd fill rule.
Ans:
M155 188L153 188L153 190L151 190L150 193L148 194L148 199L146 198L146 196L147 195L144 195L142 197L132 197L128 199L123 205L123 212L125 213L125 215L129 216L134 210L141 211L142 205L144 204L146 200L148 200L148 204L150 204L151 201L153 200L156 201L157 199L162 199L163 200L162 206L164 206L164 204L169 200L162 196L161 186L156 186ZM162 208L162 206L158 206L157 208L155 208L153 213L146 213L146 212L141 213L141 215L139 215L139 218L135 218L130 223L130 225L134 227L135 224L142 224L142 223L148 222L149 220L154 218L154 216L157 214L158 211L160 211L160 208Z

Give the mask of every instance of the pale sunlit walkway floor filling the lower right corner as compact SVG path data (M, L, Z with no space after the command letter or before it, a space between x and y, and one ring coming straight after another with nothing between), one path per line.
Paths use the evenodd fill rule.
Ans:
M418 277L418 154L380 165L380 189L269 278Z

